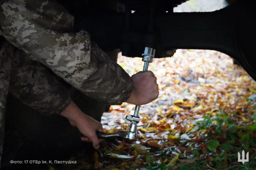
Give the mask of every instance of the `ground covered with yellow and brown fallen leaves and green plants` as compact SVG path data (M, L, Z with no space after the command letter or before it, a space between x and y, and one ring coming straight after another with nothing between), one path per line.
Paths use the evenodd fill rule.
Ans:
M141 58L118 62L131 75L143 68ZM149 70L160 95L141 106L137 141L102 142L76 170L256 170L256 82L243 68L217 51L177 50ZM133 114L134 105L111 106L104 131L128 131Z

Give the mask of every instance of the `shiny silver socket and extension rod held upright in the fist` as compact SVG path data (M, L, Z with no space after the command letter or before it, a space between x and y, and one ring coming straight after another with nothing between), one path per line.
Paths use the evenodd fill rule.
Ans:
M142 61L144 61L144 67L143 71L148 70L148 63L153 62L155 55L155 49L150 48L150 47L145 47L145 51L142 54ZM140 117L139 117L139 112L140 112L140 105L136 105L134 109L134 115L133 116L126 116L125 119L129 120L131 122L129 132L129 136L136 136L137 138L137 123L140 122Z

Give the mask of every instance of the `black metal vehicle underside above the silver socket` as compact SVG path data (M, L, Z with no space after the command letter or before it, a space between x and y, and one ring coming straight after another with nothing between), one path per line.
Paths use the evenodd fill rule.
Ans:
M159 11L154 5L133 14L130 9L94 8L74 15L105 51L118 48L127 57L141 57L147 46L156 48L155 57L161 58L172 56L175 49L216 50L233 57L256 79L256 9L252 4L237 0L218 11L192 13Z

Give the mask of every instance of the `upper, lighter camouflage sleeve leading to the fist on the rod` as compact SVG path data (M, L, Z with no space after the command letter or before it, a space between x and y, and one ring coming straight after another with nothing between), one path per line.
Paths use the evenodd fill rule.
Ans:
M93 99L121 104L131 95L131 77L93 42L72 32L73 16L47 0L6 0L0 29L16 47Z

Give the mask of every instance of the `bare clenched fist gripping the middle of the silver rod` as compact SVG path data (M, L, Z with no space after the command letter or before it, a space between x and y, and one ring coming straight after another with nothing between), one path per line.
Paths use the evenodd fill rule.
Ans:
M131 76L133 90L126 101L134 105L145 105L157 99L159 95L157 78L152 71L140 71Z

